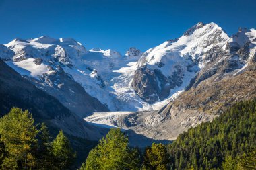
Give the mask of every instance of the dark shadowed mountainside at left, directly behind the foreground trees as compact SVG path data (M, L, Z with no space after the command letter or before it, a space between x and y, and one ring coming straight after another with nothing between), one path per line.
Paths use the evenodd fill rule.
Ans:
M98 140L102 136L98 128L70 112L55 97L36 88L2 60L0 95L1 116L15 106L30 110L36 121L46 122L52 128L61 128L67 134L90 140Z

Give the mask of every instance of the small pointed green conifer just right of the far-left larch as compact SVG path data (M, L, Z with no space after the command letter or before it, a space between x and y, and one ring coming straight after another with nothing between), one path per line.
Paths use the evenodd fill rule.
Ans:
M55 140L53 140L51 153L55 158L55 169L65 169L75 159L75 153L73 153L69 139L63 134L62 130L56 136Z

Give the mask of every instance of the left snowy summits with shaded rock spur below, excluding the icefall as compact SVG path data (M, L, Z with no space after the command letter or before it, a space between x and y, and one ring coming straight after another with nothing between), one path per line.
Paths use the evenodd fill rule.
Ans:
M73 67L75 58L86 53L84 46L75 40L42 36L32 40L15 39L6 46L10 53L7 64L72 112L84 117L92 112L108 111L62 68Z

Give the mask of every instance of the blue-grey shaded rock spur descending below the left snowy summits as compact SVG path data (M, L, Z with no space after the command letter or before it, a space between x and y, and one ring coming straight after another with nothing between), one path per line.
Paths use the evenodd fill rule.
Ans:
M105 105L88 95L84 88L73 80L71 75L65 73L61 66L49 74L42 75L39 80L28 76L26 76L26 79L39 89L43 89L56 97L65 107L81 118L92 112L108 111Z

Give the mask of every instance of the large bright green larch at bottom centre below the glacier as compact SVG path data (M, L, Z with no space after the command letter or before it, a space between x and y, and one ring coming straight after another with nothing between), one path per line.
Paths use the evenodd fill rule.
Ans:
M96 148L90 151L84 169L139 169L139 152L129 148L128 138L119 128L111 129Z

